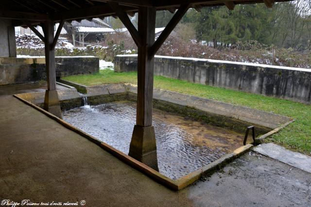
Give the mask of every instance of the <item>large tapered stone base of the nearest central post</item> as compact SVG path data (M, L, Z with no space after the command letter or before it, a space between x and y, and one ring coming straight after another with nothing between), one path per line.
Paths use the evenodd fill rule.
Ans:
M135 125L128 153L134 159L159 171L156 156L155 128Z

